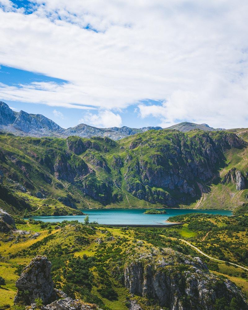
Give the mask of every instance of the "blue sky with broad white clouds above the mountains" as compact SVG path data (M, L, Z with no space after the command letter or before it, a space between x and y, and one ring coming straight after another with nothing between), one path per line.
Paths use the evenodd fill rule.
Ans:
M67 128L248 127L247 0L0 0L0 101Z

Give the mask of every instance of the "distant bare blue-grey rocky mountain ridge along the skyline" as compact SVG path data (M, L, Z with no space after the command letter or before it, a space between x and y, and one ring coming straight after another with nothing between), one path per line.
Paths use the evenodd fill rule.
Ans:
M82 138L99 136L119 140L137 133L152 129L161 130L163 128L160 126L148 126L142 128L130 128L127 126L97 128L86 124L79 124L75 127L64 129L42 114L29 114L22 110L20 112L15 112L11 110L5 102L0 101L0 129L20 136L54 136L67 138L76 135ZM212 128L207 124L195 124L190 122L182 122L164 129L176 129L182 132L187 132L192 129L201 129L203 131L224 130L221 128Z

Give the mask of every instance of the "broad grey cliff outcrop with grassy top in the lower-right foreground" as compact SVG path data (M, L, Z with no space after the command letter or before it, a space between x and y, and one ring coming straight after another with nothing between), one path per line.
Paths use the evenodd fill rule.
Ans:
M229 280L208 271L200 258L170 248L163 253L140 253L124 268L125 286L130 293L154 300L173 310L214 310L215 302L237 298L240 309L248 309L241 292ZM238 309L237 309L238 310Z

